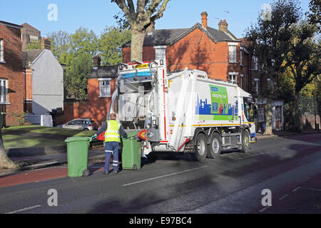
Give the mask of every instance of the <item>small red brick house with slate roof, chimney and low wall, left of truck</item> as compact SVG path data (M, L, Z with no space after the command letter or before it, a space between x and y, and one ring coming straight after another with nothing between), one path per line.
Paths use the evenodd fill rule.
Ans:
M93 57L93 69L87 77L88 99L85 101L65 100L63 114L54 118L55 125L76 118L91 118L98 125L106 121L111 105L111 95L115 90L117 66L101 66L101 58Z

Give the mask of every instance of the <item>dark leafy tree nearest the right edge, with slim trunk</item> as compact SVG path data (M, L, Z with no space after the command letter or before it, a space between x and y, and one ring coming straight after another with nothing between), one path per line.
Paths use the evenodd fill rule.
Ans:
M315 41L318 27L308 21L290 26L290 48L285 57L294 78L294 100L292 109L292 130L300 132L299 94L321 73L321 43Z

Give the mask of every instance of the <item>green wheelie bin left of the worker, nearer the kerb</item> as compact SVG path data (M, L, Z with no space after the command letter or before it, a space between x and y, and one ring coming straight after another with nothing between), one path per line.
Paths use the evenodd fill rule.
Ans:
M89 137L69 137L67 142L68 177L88 177Z

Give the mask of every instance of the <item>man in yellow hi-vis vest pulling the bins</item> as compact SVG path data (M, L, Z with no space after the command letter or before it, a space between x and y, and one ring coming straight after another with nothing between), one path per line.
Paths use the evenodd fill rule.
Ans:
M107 175L109 171L109 163L111 162L111 155L113 155L113 172L118 173L118 148L121 143L121 136L128 138L126 131L123 129L123 125L116 120L116 114L111 113L110 120L103 123L97 133L91 136L95 139L97 135L105 132L105 166L103 167L103 174Z

